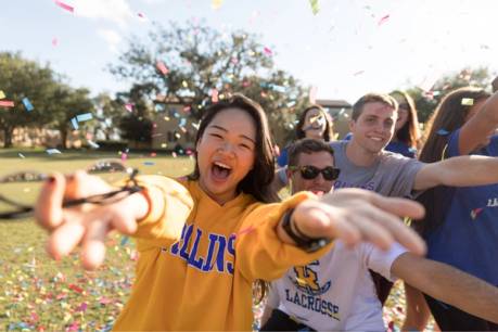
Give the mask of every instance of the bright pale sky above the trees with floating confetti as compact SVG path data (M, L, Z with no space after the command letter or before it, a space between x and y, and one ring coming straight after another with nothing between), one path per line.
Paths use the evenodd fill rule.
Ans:
M126 90L106 69L152 22L204 20L257 34L278 68L355 102L367 92L430 88L444 74L498 73L497 0L0 0L0 51L50 63L93 94ZM429 89L427 88L427 89Z

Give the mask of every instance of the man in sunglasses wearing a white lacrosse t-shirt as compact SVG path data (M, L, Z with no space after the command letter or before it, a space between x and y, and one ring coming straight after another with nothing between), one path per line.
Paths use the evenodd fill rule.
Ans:
M289 150L292 193L333 190L341 170L333 149L304 139ZM410 254L396 243L382 251L341 240L318 260L296 266L270 284L261 331L385 331L382 304L369 269L388 280L403 279L442 301L498 320L498 289L447 265ZM493 311L493 312L491 312Z

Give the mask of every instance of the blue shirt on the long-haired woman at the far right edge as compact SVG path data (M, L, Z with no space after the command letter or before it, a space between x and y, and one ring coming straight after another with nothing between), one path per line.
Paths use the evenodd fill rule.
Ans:
M448 157L460 155L459 135L449 136ZM472 154L498 156L498 136ZM498 183L455 188L444 222L425 238L429 258L498 285Z

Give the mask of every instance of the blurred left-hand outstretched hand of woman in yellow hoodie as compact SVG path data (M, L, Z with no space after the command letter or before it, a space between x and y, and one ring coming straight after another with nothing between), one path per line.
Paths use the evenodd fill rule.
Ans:
M86 269L99 267L105 256L105 238L112 230L131 234L137 220L148 213L149 204L136 193L106 205L81 204L63 208L63 202L108 193L111 187L99 177L77 171L65 177L54 174L41 189L35 209L38 224L50 233L47 252L60 259L81 246L81 263Z

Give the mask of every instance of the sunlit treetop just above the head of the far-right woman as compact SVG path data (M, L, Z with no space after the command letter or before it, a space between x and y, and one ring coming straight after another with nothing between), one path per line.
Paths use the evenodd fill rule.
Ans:
M468 86L485 89L489 86L489 82L490 74L487 68L464 68L459 73L451 73L438 79L432 87L431 91L423 91L419 87L413 87L408 89L407 92L416 102L419 120L421 123L425 123L443 97L451 90Z

